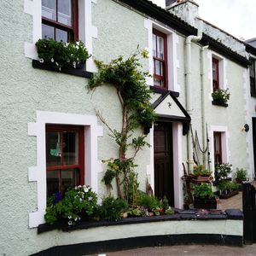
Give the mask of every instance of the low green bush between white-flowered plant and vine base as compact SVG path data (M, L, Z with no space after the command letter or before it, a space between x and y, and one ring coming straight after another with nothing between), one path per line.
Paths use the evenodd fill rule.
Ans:
M98 210L102 219L118 221L121 219L121 213L127 212L129 207L127 201L109 196L103 199L102 206Z

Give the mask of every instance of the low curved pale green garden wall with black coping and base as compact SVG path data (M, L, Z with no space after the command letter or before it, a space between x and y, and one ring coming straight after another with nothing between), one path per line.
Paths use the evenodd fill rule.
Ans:
M134 247L200 243L242 246L243 215L181 212L173 215L125 218L119 222L89 222L74 227L38 227L38 236L54 240L54 247L32 255L83 255ZM55 228L61 230L53 230ZM42 248L43 249L43 248Z

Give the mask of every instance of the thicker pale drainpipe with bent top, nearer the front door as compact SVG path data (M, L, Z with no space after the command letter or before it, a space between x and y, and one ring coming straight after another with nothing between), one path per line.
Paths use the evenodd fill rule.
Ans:
M185 51L187 56L187 65L186 65L186 91L187 91L187 112L189 113L191 117L191 125L192 125L192 112L193 112L193 106L192 106L192 83L191 83L191 43L199 42L202 37L202 20L199 20L199 26L197 30L197 36L190 35L188 38L186 38L185 41ZM192 134L191 129L189 129L188 132L188 167L189 167L189 173L193 171L194 167L194 160L193 160L193 145L192 145Z

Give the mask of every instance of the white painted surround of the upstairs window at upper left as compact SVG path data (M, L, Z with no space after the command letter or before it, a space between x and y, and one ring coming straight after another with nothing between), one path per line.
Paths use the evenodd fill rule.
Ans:
M90 55L93 55L92 41L97 38L97 28L92 25L92 3L96 0L79 0L79 40L83 41ZM42 15L40 0L24 0L24 12L32 15L32 43L25 42L25 56L38 60L36 42L42 38ZM86 70L96 72L96 65L90 57L86 61Z

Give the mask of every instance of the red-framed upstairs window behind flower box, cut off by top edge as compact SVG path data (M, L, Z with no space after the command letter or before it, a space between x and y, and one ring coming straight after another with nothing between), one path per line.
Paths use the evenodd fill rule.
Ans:
M42 0L42 38L79 39L78 0Z

